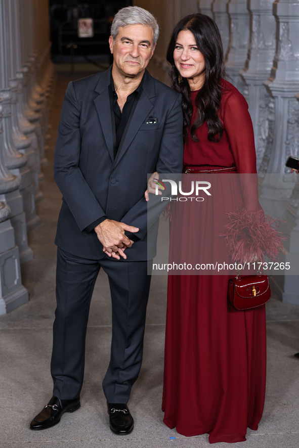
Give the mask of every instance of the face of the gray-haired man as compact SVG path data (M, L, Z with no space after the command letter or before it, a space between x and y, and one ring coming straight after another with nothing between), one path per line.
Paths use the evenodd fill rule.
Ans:
M143 73L151 57L154 32L148 25L120 26L113 42L109 37L109 47L113 54L113 67L122 76L136 77Z

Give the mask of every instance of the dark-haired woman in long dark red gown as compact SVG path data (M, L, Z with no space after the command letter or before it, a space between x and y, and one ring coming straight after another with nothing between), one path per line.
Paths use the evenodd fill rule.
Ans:
M259 208L255 191L235 188L235 174L230 174L232 180L225 182L220 197L226 171L257 171L248 106L223 79L222 42L215 22L202 14L182 19L174 29L167 60L172 65L173 88L183 97L184 172L188 167L191 173L221 173L211 174L219 184L218 216L240 205L248 211ZM204 178L208 180L206 174ZM209 235L211 227L217 233L219 222L210 219L213 205L203 204L198 212L195 207L186 209L189 213L182 213L181 203L173 207L170 260L178 254L180 233L183 249L192 246L194 227L202 232L203 253L218 244L203 237L207 228ZM168 277L163 422L186 436L209 433L210 443L246 440L247 427L258 429L264 408L265 306L234 309L227 299L232 277Z

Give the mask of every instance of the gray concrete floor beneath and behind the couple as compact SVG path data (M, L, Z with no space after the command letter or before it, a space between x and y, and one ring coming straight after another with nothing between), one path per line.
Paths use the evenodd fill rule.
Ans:
M152 279L145 334L144 361L130 399L135 429L129 436L112 434L101 388L109 362L110 301L107 278L100 273L92 301L81 408L65 414L59 425L29 430L30 420L52 393L50 356L55 309L56 247L53 243L61 204L52 176L53 151L63 94L69 79L60 74L51 111L53 126L49 164L40 185L45 199L37 204L41 225L29 233L34 260L22 266L30 301L0 317L0 448L160 448L209 446L207 434L184 437L162 423L161 412L166 277ZM264 415L258 431L235 447L299 446L299 306L273 297L267 304L268 376ZM176 437L176 439L169 439ZM216 443L228 446L225 443Z

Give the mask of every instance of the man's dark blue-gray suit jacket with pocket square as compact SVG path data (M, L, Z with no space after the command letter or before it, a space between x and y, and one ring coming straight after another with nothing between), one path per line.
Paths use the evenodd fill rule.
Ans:
M114 161L110 71L111 67L67 87L54 157L54 177L63 195L55 243L83 258L105 257L95 231L88 233L86 228L106 215L140 229L125 253L128 260L146 260L155 255L155 247L147 250L147 174L182 172L181 99L146 71ZM159 201L151 195L149 204L154 207ZM151 222L149 229L156 232L157 223Z

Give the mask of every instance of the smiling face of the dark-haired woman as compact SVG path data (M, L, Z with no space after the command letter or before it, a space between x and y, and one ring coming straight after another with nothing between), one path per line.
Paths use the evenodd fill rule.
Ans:
M178 34L174 60L177 69L184 78L193 78L193 83L202 81L205 77L205 60L197 48L191 31L183 30Z

